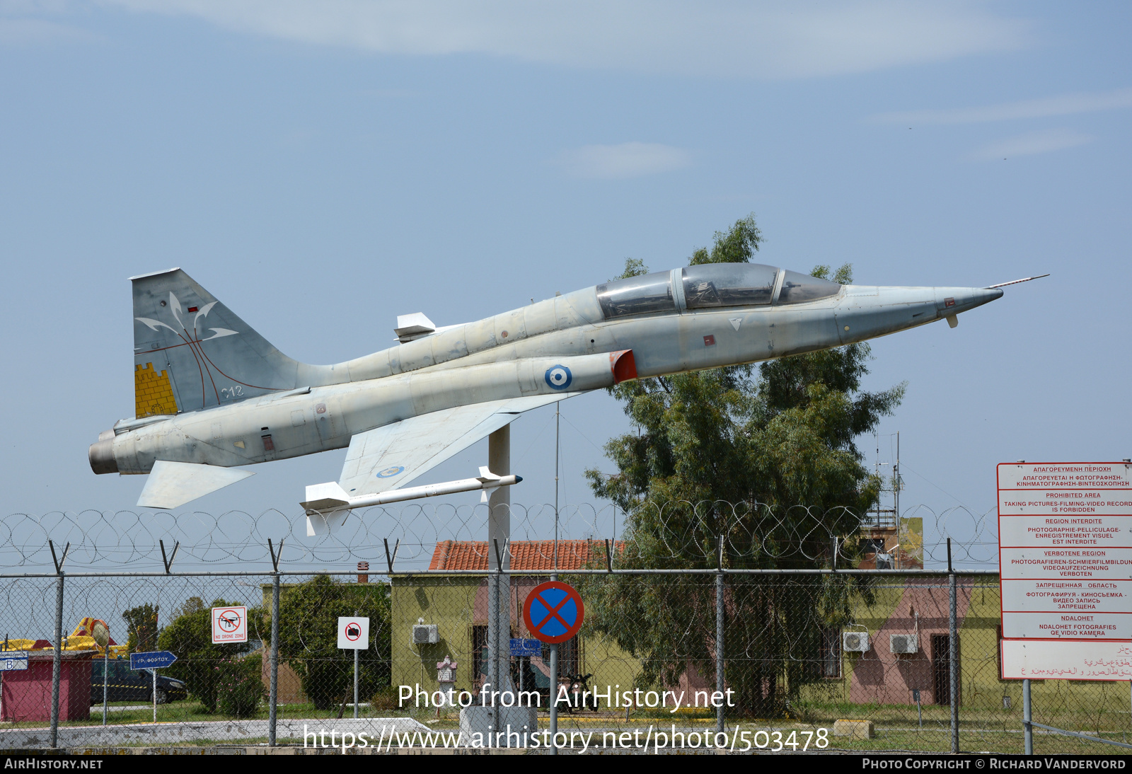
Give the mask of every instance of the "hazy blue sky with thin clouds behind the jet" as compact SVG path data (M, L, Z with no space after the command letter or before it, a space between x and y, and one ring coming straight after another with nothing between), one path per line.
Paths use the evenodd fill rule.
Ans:
M452 325L626 258L684 265L754 213L756 260L860 284L1050 273L872 344L866 387L908 388L866 462L899 432L901 509L984 566L997 463L1132 456L1130 22L1117 2L0 0L0 513L138 510L144 481L86 458L132 414L131 275L179 266L331 363L392 345L397 315ZM628 421L599 392L560 428L564 532L611 536L583 471L612 472ZM554 502L554 407L512 445L513 501ZM343 458L261 465L183 510L285 530ZM418 542L479 536L477 501L420 516ZM522 536L546 536L538 513Z

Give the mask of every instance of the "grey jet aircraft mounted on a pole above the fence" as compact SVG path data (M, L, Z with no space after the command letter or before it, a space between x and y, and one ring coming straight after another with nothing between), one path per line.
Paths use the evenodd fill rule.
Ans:
M138 506L175 508L245 466L349 447L308 513L509 485L480 475L405 489L521 413L643 377L841 346L957 316L989 287L841 285L758 264L607 282L437 327L397 318L397 344L333 366L288 358L179 268L130 277L135 415L89 448L95 473L148 473ZM1024 282L1024 281L1017 281ZM1013 283L1003 283L1013 284ZM308 533L314 534L308 526Z

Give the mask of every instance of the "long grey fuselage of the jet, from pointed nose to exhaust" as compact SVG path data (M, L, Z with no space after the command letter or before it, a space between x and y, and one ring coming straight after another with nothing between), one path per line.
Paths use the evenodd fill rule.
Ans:
M92 467L147 473L158 459L232 467L295 457L343 448L357 433L454 406L574 395L624 378L753 363L945 317L953 321L1002 295L989 289L833 285L838 290L824 298L783 303L779 270L767 303L704 308L702 300L689 301L692 286L681 272L668 277L668 301L655 295L660 302L649 308L646 300L640 312L632 298L617 307L623 299L612 298L608 283L344 363L297 363L292 389L248 396L241 384L225 384L216 387L218 405L119 422L91 447ZM648 277L662 285L664 274ZM667 303L670 309L655 311Z

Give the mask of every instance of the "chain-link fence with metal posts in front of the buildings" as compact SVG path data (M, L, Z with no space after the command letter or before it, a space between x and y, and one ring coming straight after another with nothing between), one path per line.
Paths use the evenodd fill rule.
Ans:
M740 508L743 519L726 509L720 521L713 505L684 508L686 538L662 549L632 532L504 547L406 540L415 545L404 559L394 536L350 544L346 566L325 541L257 545L232 525L232 543L212 536L189 547L178 542L187 530L149 525L156 544L136 541L128 561L111 562L128 532L9 518L9 535L45 538L42 547L20 543L26 565L44 556L51 565L8 565L2 576L0 633L14 668L2 672L0 748L475 746L461 710L490 704L498 688L537 710L533 724L494 746L1023 750L1022 686L1000 679L994 570L924 569L868 517L839 526L834 541L827 521L809 514L770 513L760 524ZM703 540L721 524L731 532ZM794 532L783 534L783 524ZM893 540L901 528L911 526L892 525ZM57 538L76 536L83 550L72 543L63 558ZM3 550L14 547L9 539ZM487 570L492 550L509 570ZM360 567L359 556L368 557ZM680 557L685 566L674 566ZM213 559L209 568L196 569L203 559ZM311 569L318 564L329 567ZM585 604L581 631L556 647L556 670L550 647L528 642L523 614L551 575ZM492 605L508 621L495 639ZM234 626L246 643L214 643L216 610L243 618ZM355 652L338 648L342 617L369 620L357 666ZM496 645L507 648L505 674L491 671L492 643L507 643ZM172 665L130 669L131 653L164 651ZM26 669L17 653L27 654ZM1130 687L1032 681L1035 751L1123 751L1097 739L1129 743Z

